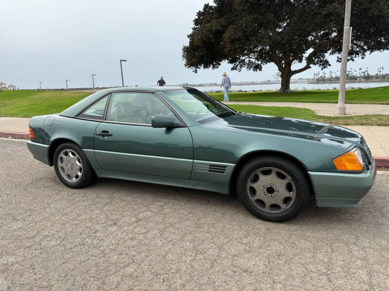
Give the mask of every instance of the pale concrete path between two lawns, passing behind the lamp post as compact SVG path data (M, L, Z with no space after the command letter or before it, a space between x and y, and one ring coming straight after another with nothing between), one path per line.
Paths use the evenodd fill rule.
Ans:
M334 103L305 103L305 102L240 102L230 101L225 104L237 105L261 105L261 106L278 106L278 107L298 107L313 110L316 114L332 116L335 115ZM346 104L347 115L363 114L389 114L389 105L382 104Z

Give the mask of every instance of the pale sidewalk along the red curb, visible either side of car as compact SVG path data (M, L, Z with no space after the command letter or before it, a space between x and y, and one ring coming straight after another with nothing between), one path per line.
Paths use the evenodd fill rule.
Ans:
M305 103L311 104L311 103ZM320 104L320 103L318 103ZM334 105L334 104L332 104ZM0 117L0 131L28 133L30 118ZM374 156L389 157L389 127L387 126L345 126L362 134L371 147ZM2 136L6 136L1 134ZM10 136L12 136L10 134Z

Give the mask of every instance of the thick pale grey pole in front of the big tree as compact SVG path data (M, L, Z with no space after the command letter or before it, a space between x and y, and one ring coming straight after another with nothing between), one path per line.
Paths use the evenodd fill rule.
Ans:
M351 0L346 0L346 9L344 12L344 28L343 28L343 44L342 44L342 63L340 65L340 82L339 82L339 97L335 108L336 115L346 114L346 106L344 105L344 97L346 94L346 72L347 72L347 57L351 44Z

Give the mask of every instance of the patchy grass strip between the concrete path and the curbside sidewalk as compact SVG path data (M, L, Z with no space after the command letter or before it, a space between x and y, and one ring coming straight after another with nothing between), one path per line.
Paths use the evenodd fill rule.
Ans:
M229 105L239 112L283 116L298 119L308 119L337 125L376 125L389 126L389 115L369 114L351 116L323 116L315 114L310 109L296 107L258 106L258 105Z

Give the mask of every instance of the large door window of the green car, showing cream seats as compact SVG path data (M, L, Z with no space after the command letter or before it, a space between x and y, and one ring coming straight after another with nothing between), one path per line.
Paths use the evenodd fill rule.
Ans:
M141 92L112 93L106 120L136 124L151 124L155 115L173 114L154 94Z

